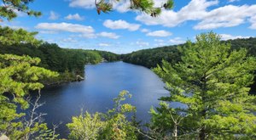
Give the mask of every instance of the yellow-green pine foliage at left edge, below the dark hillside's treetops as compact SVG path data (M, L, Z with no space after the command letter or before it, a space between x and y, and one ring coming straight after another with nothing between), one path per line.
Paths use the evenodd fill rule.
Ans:
M20 139L26 137L27 133L47 130L46 125L41 123L24 126L18 120L25 114L16 112L18 104L21 109L29 107L25 97L30 91L44 87L38 82L40 79L58 76L56 72L38 67L39 62L38 58L0 54L0 133L11 139ZM9 95L13 98L9 98Z

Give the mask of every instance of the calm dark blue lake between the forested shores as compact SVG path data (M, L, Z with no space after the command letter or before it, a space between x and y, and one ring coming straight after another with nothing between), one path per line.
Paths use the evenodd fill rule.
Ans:
M82 108L90 113L106 112L113 108L113 98L122 90L131 92L132 98L126 103L137 107L137 119L143 123L150 119L148 110L159 103L158 98L168 95L160 78L143 66L114 62L85 67L85 81L42 91L40 101L45 104L39 110L48 114L44 119L49 125L62 122L58 130L61 137L67 137L65 124Z

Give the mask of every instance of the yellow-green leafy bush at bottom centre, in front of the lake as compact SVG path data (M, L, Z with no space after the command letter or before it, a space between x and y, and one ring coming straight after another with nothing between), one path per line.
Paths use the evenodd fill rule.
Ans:
M114 98L114 109L109 109L108 113L96 113L73 117L73 122L67 124L71 131L69 137L73 139L137 139L137 128L127 120L126 114L136 111L131 104L120 104L125 97L131 98L127 91L119 93L118 98Z

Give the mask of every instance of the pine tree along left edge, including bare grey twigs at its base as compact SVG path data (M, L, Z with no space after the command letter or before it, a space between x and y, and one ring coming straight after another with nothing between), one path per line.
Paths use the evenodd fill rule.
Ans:
M1 28L1 47L9 45L22 46L23 44L40 44L34 38L34 33L24 30L12 30L9 27ZM58 73L38 67L40 59L13 54L0 54L0 136L11 139L29 139L30 137L52 137L55 135L48 130L47 125L40 121L42 114L35 112L40 104L38 100L32 104L30 119L26 120L25 113L17 113L16 109L28 109L26 100L30 91L40 91L44 79L54 78Z

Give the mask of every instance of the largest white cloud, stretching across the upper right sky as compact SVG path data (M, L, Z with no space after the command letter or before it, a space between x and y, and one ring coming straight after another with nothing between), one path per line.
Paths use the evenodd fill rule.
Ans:
M195 30L215 29L219 27L231 27L241 25L256 15L256 4L248 6L227 5L224 7L207 8L218 4L218 0L191 0L189 4L175 12L173 10L163 10L159 17L153 18L148 14L137 15L136 20L145 25L163 25L175 27L182 23L195 20L200 21L195 25Z

